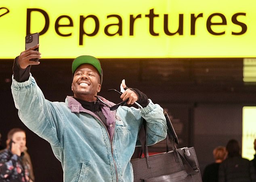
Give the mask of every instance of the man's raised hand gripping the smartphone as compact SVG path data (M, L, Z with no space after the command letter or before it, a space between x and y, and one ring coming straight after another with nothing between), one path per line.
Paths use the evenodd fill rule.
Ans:
M21 67L21 69L25 69L28 65L40 64L39 61L29 61L29 59L32 59L32 58L41 58L41 53L38 51L34 51L34 49L38 47L39 47L39 44L21 52L18 59L19 67Z

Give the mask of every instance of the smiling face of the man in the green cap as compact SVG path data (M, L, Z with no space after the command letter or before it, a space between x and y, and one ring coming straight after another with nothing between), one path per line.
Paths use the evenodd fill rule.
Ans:
M90 64L80 65L73 77L72 91L74 97L88 102L95 101L101 90L100 76L96 68Z

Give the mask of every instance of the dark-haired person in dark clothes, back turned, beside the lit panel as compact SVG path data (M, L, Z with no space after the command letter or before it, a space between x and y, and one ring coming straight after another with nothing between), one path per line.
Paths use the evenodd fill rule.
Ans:
M237 140L231 139L226 146L228 156L219 168L219 182L256 182L253 163L242 158Z

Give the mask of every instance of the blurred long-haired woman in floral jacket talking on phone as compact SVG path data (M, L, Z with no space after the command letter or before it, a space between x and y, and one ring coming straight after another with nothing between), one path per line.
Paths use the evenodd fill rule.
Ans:
M26 150L25 131L11 129L7 134L6 149L0 152L0 182L34 182L33 168Z

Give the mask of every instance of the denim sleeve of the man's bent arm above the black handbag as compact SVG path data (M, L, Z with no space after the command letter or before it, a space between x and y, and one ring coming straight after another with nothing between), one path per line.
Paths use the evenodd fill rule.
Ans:
M163 108L158 104L153 104L149 99L149 104L140 110L147 122L147 144L153 145L165 139L167 126Z

